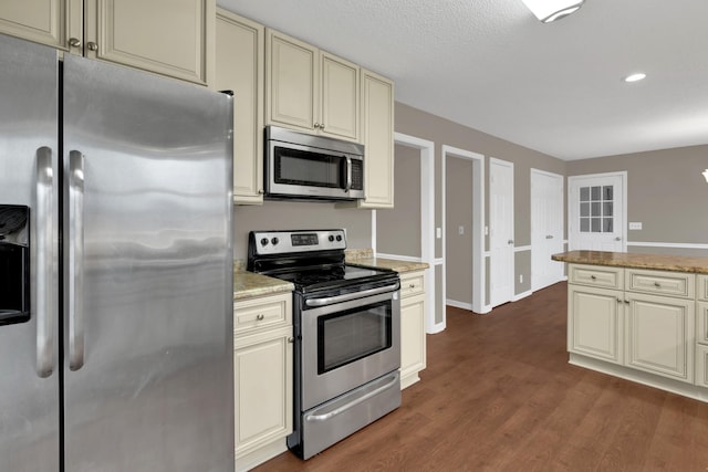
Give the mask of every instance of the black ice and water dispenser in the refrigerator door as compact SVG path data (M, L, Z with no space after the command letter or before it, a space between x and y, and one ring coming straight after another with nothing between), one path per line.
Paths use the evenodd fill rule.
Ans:
M0 204L0 326L30 319L30 208Z

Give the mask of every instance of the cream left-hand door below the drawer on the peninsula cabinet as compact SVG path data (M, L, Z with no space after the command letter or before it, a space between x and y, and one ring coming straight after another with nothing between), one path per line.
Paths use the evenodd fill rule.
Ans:
M622 292L569 285L568 350L623 361Z

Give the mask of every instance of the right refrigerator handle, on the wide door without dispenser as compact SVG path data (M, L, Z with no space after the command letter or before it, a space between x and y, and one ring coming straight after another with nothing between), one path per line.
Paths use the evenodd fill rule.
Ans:
M69 368L84 365L84 156L69 153Z

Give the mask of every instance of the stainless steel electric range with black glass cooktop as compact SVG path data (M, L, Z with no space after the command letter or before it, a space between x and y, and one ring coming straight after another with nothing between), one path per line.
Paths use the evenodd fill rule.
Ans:
M292 282L302 459L400 406L398 274L344 262L344 230L251 231L248 270Z

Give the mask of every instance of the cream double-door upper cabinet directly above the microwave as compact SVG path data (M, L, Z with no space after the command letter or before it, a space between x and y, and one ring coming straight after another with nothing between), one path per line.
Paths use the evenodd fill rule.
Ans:
M360 67L267 29L266 122L360 140Z

